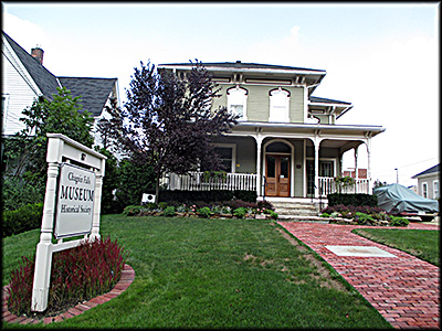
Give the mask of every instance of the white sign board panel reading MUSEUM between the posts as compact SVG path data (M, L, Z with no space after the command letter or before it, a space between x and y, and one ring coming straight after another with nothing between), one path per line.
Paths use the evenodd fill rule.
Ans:
M94 215L95 173L60 164L54 235L59 238L88 234Z

